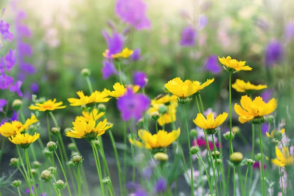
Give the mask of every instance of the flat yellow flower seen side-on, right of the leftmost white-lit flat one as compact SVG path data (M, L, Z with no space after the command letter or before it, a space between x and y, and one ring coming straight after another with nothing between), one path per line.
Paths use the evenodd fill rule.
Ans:
M79 98L68 98L71 106L86 105L89 103L107 102L110 98L105 92L95 91L90 96L85 96L83 91L76 92Z

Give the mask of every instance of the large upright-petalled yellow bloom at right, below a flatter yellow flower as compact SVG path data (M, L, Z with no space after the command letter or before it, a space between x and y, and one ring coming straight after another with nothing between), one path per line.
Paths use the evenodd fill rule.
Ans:
M256 117L264 117L272 113L277 107L277 101L275 98L270 99L268 103L265 103L261 97L256 97L253 101L248 96L242 96L240 105L235 104L235 112L239 115L239 122L246 123Z

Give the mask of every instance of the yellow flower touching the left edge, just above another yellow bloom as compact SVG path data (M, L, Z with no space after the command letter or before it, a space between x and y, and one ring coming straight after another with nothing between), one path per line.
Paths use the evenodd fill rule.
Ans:
M0 126L0 134L4 137L10 137L27 130L30 125L37 122L39 121L36 119L35 115L32 115L30 119L27 119L25 124L19 121L12 121L11 123L6 122Z

